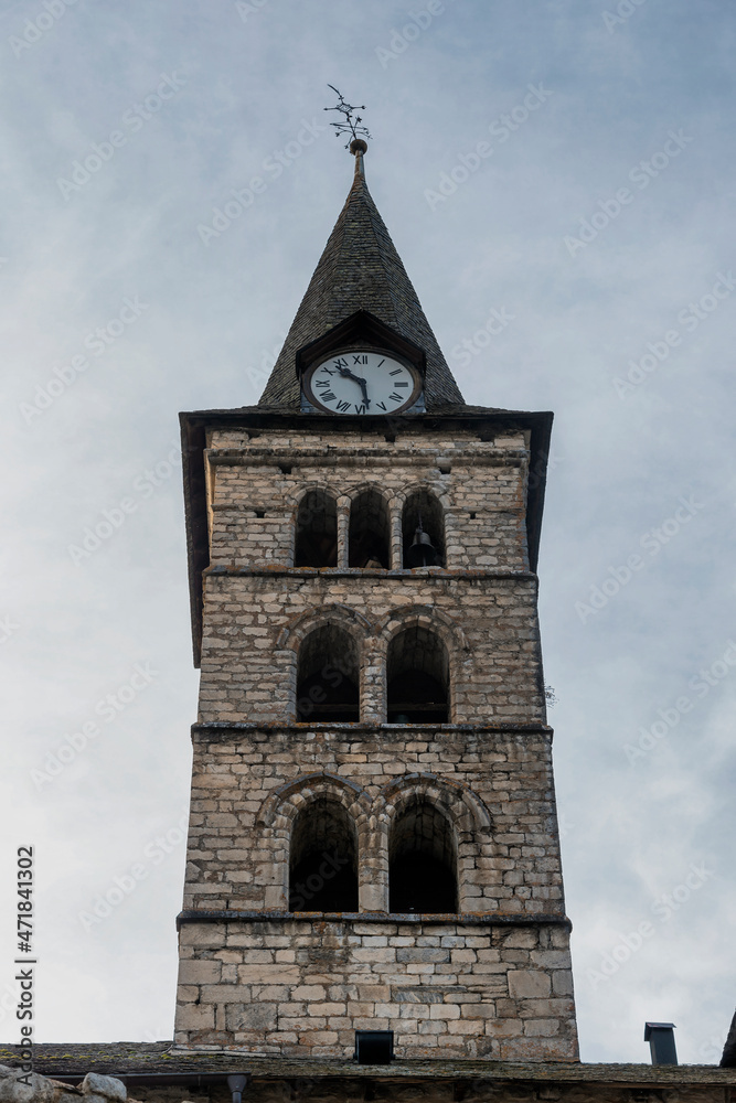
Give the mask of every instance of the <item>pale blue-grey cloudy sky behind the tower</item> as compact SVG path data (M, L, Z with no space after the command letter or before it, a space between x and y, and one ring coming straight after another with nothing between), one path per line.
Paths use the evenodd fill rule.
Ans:
M583 1059L647 1062L655 1019L717 1061L733 6L3 7L0 1037L20 845L38 1040L171 1037L198 689L177 414L258 399L350 186L329 82L366 105L372 194L466 399L555 411L541 615Z

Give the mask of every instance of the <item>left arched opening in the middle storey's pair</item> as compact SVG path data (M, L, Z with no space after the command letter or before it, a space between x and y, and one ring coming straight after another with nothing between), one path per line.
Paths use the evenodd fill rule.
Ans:
M360 674L355 641L344 629L323 624L299 649L297 720L355 722L360 719Z

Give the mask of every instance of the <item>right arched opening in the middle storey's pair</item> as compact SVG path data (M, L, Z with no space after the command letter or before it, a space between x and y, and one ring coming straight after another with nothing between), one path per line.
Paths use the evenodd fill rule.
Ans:
M399 632L386 664L388 724L447 724L449 660L445 644L425 628Z

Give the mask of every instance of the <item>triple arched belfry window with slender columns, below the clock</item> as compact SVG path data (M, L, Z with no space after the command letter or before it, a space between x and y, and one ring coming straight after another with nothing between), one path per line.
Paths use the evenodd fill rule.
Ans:
M405 568L445 566L442 507L426 490L413 491L401 516ZM361 491L350 505L346 561L350 567L392 566L392 521L386 499L375 488ZM295 567L337 567L338 503L326 490L308 491L297 511ZM342 560L344 563L344 559Z

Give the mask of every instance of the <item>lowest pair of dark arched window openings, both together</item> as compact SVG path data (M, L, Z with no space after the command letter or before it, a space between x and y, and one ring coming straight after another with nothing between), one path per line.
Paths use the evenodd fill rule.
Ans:
M355 824L340 804L321 796L294 823L289 855L289 911L358 911ZM457 844L446 814L423 796L395 816L388 835L388 910L458 910Z

